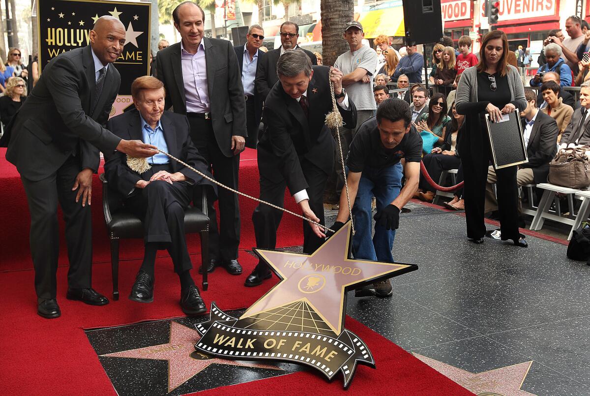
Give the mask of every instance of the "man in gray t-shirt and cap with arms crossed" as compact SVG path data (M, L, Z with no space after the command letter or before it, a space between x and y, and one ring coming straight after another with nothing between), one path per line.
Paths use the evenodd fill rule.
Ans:
M340 129L340 140L342 140L342 153L344 158L348 154L348 146L352 142L352 138L356 134L356 130L362 125L365 120L375 115L375 98L373 97L373 87L371 84L372 76L375 74L377 67L377 53L371 47L362 45L363 32L362 25L357 21L350 21L344 27L344 39L348 42L350 51L346 51L340 55L334 67L338 68L344 77L342 77L342 86L346 93L356 106L356 128L355 129ZM336 180L330 178L329 191L327 201L329 203L336 203L337 197L342 191L344 185L345 175L342 172L342 161L340 160L340 151L337 148L336 140ZM336 188L333 189L333 184Z

